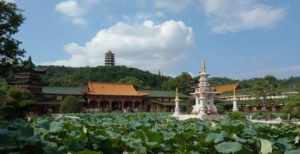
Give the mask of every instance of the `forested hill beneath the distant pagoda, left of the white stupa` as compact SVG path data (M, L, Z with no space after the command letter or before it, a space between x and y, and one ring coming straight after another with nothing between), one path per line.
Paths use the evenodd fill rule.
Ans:
M160 89L162 82L170 79L159 73L153 74L126 66L64 67L40 66L46 69L43 82L49 86L82 86L88 81L132 83L138 88Z

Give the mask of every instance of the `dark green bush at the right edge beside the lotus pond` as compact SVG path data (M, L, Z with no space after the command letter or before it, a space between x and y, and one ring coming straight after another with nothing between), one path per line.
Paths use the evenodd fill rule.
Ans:
M290 97L283 111L288 113L292 118L300 118L300 95Z

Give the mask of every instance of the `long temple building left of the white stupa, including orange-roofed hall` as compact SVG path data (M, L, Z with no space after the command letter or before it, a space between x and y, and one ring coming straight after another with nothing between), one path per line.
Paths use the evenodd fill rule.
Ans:
M41 82L45 71L20 72L10 82L17 88L30 91L35 98L32 112L58 113L66 96L76 97L82 112L173 112L175 91L142 90L132 84L88 82L82 87L49 87ZM182 108L188 106L188 96L179 94Z

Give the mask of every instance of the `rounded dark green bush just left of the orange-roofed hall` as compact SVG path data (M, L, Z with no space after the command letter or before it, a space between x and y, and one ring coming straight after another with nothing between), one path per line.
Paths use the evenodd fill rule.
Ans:
M77 113L80 112L81 103L78 98L74 96L66 96L60 105L60 112L62 113Z

